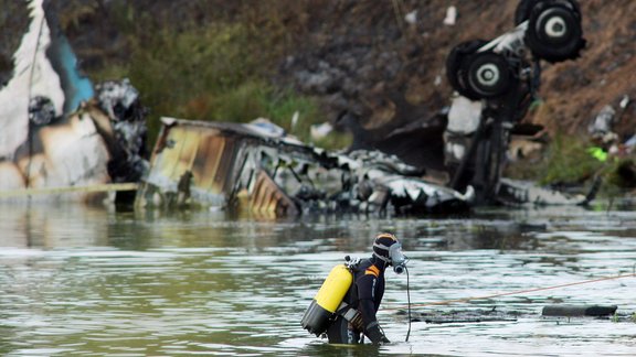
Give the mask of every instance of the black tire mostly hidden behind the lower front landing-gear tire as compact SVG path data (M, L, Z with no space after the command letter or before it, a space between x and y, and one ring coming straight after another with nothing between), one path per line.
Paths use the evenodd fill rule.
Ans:
M486 40L464 41L453 47L446 57L446 78L448 83L453 89L471 100L478 100L479 97L467 89L463 72L465 71L467 58L487 43L488 41Z

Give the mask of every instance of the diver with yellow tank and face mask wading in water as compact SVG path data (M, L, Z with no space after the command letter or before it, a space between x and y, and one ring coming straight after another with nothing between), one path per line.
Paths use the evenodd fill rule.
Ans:
M301 325L316 336L326 334L331 344L390 343L375 316L384 295L389 266L403 273L407 258L394 235L382 232L373 241L369 259L351 260L333 268L303 317ZM340 294L341 292L341 294ZM331 307L329 307L331 306Z

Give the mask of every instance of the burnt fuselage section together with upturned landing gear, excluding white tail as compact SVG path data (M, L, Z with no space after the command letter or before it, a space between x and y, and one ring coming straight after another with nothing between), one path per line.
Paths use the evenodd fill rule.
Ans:
M540 61L574 60L585 45L575 0L523 0L515 24L492 41L457 45L447 58L448 80L459 93L444 134L449 187L427 183L415 167L378 152L331 154L258 133L255 126L165 118L137 203L198 202L276 215L456 213L494 203L584 205L598 182L587 195L568 195L501 176L511 129L536 98Z

